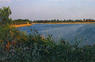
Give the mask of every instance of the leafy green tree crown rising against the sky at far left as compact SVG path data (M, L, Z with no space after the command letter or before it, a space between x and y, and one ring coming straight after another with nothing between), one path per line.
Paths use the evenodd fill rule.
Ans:
M9 18L10 15L11 10L9 7L0 8L0 21L3 25L11 22L11 19Z

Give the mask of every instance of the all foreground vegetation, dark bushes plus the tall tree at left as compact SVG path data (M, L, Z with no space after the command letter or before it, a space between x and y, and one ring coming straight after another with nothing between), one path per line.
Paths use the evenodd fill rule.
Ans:
M1 12L3 11L3 13ZM0 9L0 62L94 62L95 45L78 47L62 40L54 43L31 29L30 35L10 27L9 8ZM8 16L7 16L8 15ZM7 17L4 17L7 16ZM5 21L3 21L5 20Z

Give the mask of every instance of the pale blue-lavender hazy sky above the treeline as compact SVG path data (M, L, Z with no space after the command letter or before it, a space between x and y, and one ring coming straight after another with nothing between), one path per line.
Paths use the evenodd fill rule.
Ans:
M12 19L95 19L95 0L0 0Z

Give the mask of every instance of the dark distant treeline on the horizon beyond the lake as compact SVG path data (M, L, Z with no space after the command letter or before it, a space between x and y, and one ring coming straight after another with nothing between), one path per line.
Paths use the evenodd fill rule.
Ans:
M27 24L27 23L50 23L50 22L95 22L94 19L83 19L83 20L29 20L29 19L17 19L12 21L13 24Z

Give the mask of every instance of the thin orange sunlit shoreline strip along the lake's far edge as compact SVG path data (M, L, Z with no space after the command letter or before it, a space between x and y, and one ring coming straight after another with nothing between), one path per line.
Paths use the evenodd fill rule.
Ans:
M11 25L11 27L25 27L25 26L31 26L34 24L95 24L95 22L45 22L45 23L37 23L37 22L32 22L31 24L19 24L19 25Z

